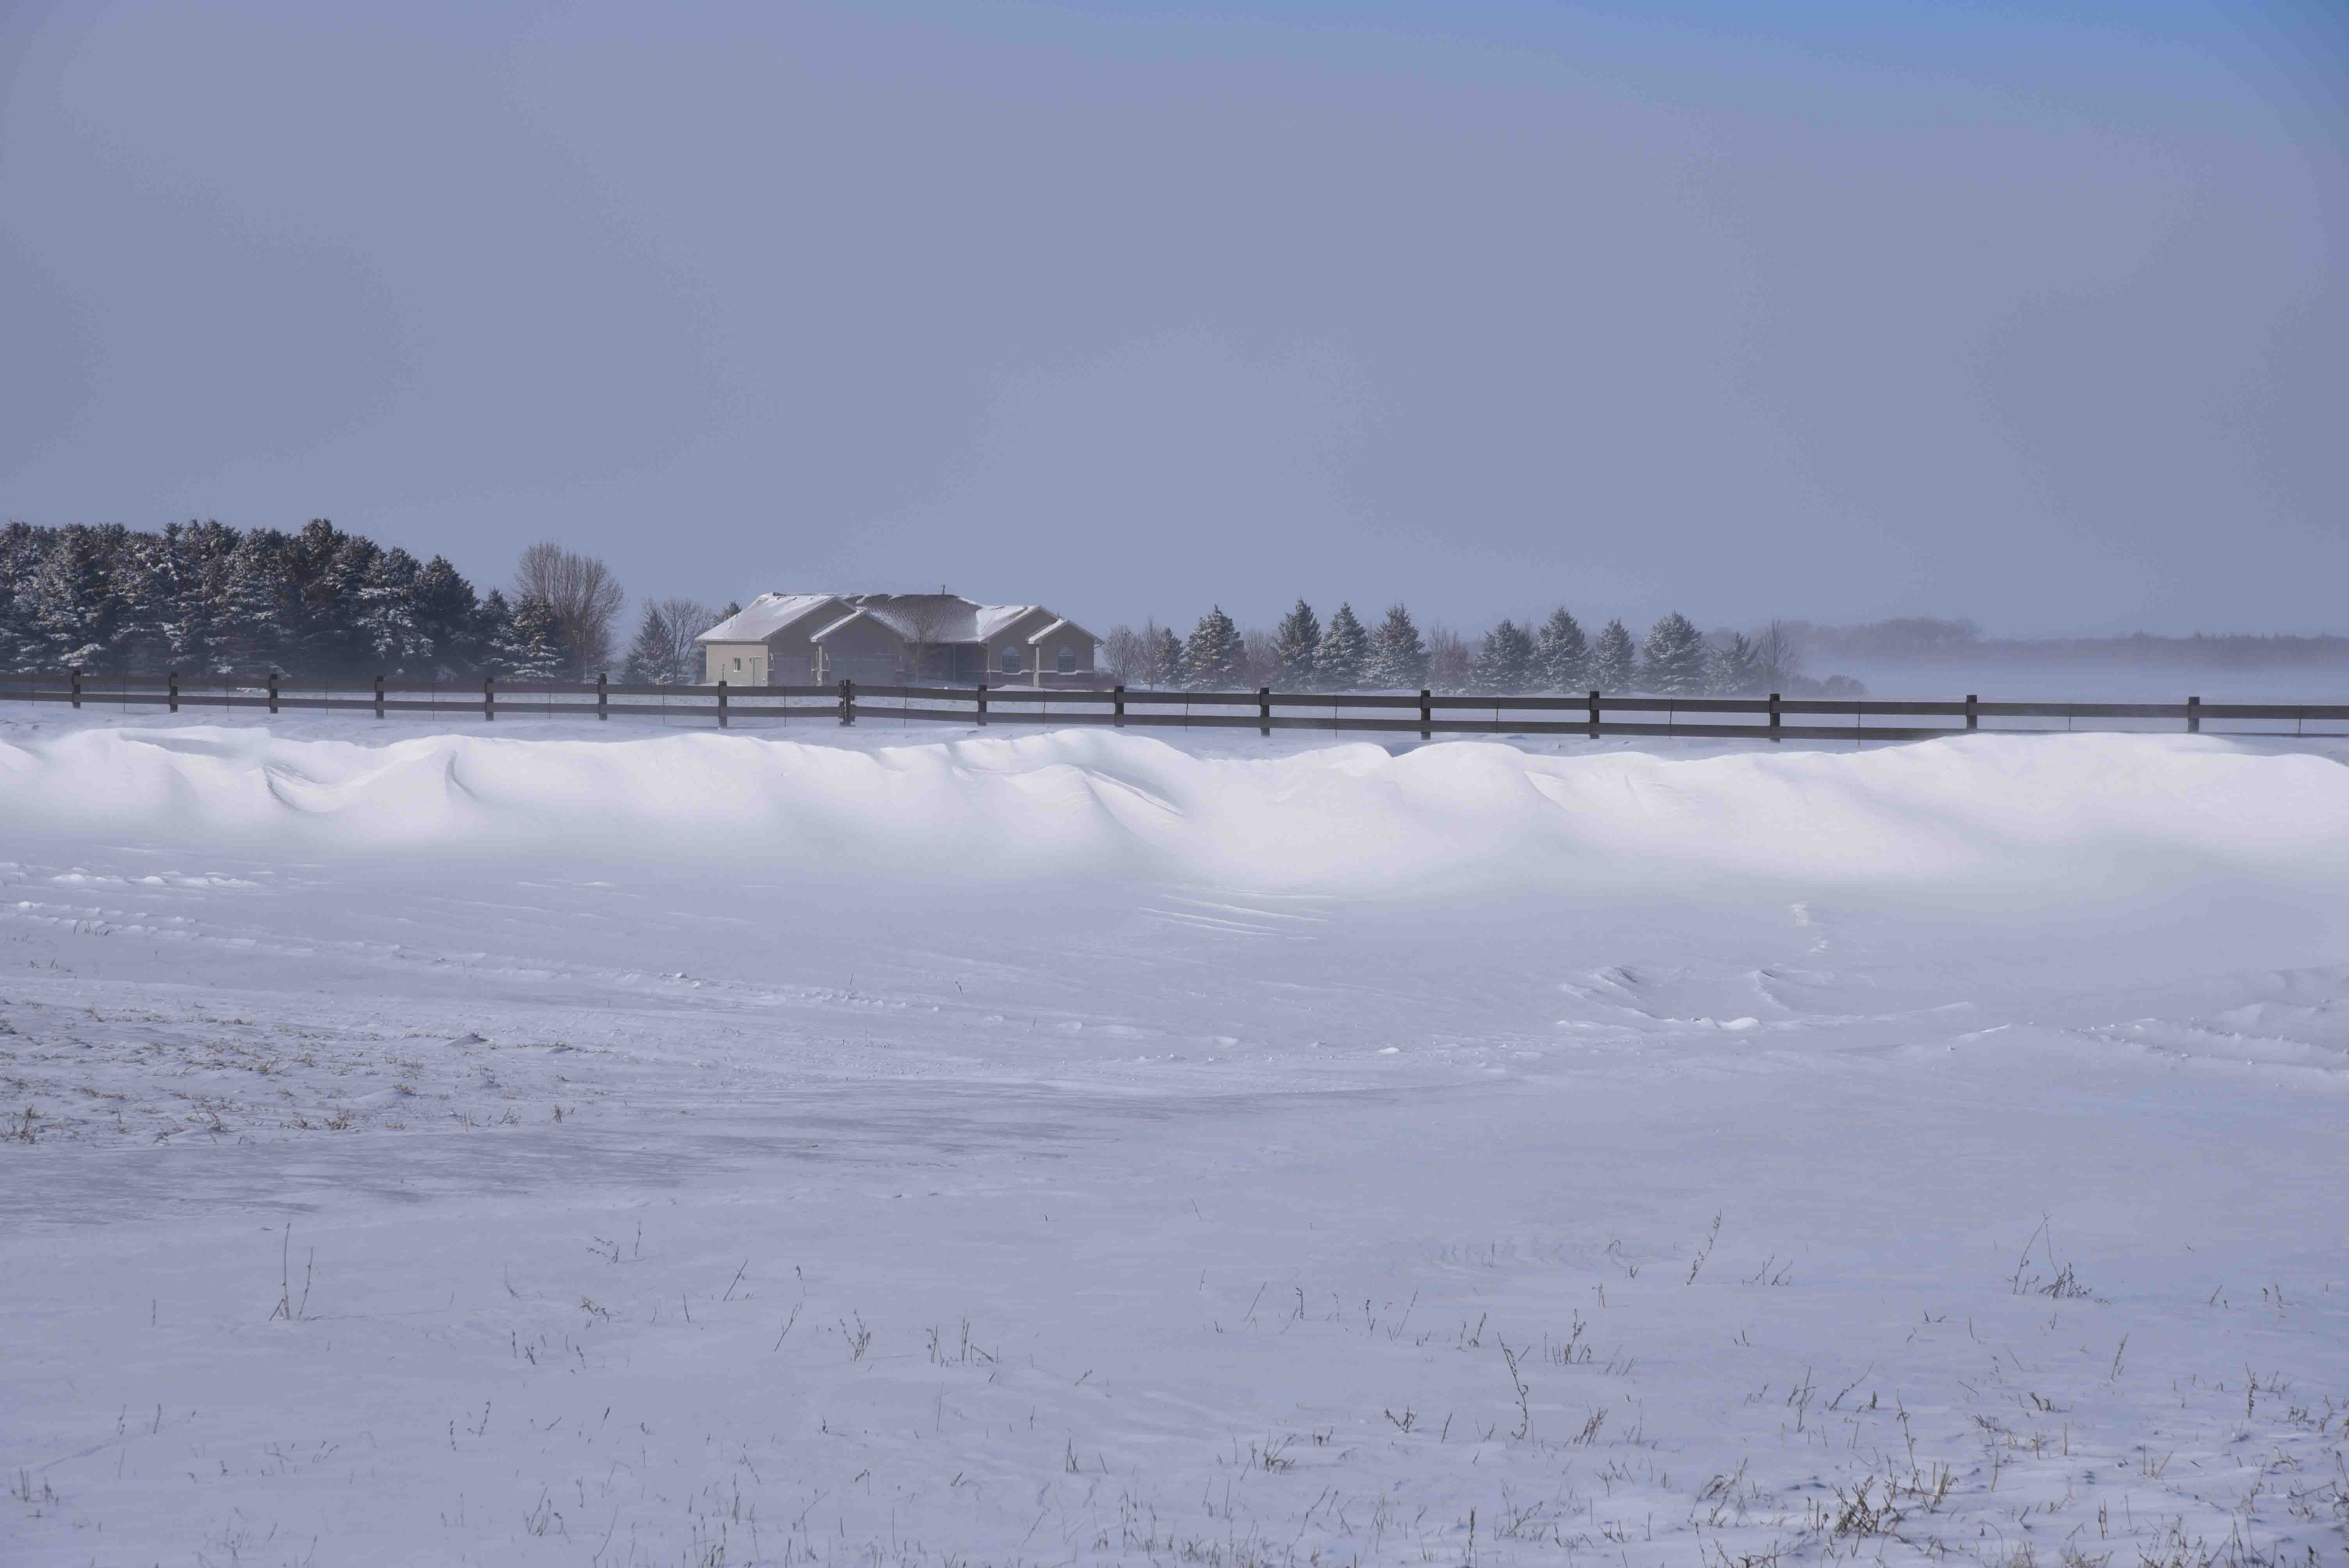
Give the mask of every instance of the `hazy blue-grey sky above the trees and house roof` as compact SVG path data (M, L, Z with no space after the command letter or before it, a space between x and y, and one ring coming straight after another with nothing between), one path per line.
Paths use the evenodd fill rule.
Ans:
M2326 5L0 9L0 514L2349 631Z

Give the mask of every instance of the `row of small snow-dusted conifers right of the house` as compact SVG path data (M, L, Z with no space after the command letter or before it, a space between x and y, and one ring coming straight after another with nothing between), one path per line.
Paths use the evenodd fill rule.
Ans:
M1621 620L1588 636L1569 610L1557 608L1539 627L1503 620L1470 646L1445 627L1421 634L1400 603L1388 606L1377 627L1365 627L1351 603L1341 603L1325 624L1299 599L1273 631L1240 631L1217 606L1189 638L1158 622L1116 627L1102 655L1109 674L1128 685L1191 690L1600 690L1656 697L1846 690L1839 676L1830 685L1802 674L1802 641L1785 622L1750 636L1705 636L1677 610L1649 627L1644 638L1633 638Z

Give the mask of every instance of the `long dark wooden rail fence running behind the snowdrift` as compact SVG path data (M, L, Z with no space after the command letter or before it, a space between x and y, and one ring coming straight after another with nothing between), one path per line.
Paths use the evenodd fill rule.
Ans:
M498 718L655 718L714 723L862 721L961 725L1139 725L1332 730L1362 735L1649 735L1684 739L1903 742L1985 728L2044 732L2180 728L2201 735L2349 737L2349 702L1872 702L1865 697L1614 697L1461 692L1186 692L1034 685L615 685L611 681L303 681L294 676L0 676L0 702L82 707L261 709L268 714L467 714ZM1837 723L1820 723L1835 718ZM1938 718L1943 723L1886 723ZM1734 723L1743 721L1743 723ZM2004 723L1985 723L2004 721ZM2037 723L2015 723L2037 721ZM2290 728L2241 728L2283 725ZM2328 725L2328 728L2311 728Z

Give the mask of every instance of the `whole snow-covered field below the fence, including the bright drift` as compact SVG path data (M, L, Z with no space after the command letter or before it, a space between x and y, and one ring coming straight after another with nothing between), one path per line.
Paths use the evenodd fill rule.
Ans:
M26 714L12 1566L2349 1561L2342 742Z

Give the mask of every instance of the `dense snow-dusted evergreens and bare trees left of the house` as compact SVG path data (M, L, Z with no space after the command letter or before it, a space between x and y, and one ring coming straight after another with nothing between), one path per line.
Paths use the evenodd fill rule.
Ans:
M611 568L554 542L521 552L512 594L479 594L446 556L418 561L327 519L298 533L0 528L9 674L576 681L604 667L625 601ZM688 601L646 606L630 671L698 681L693 636L716 620Z

